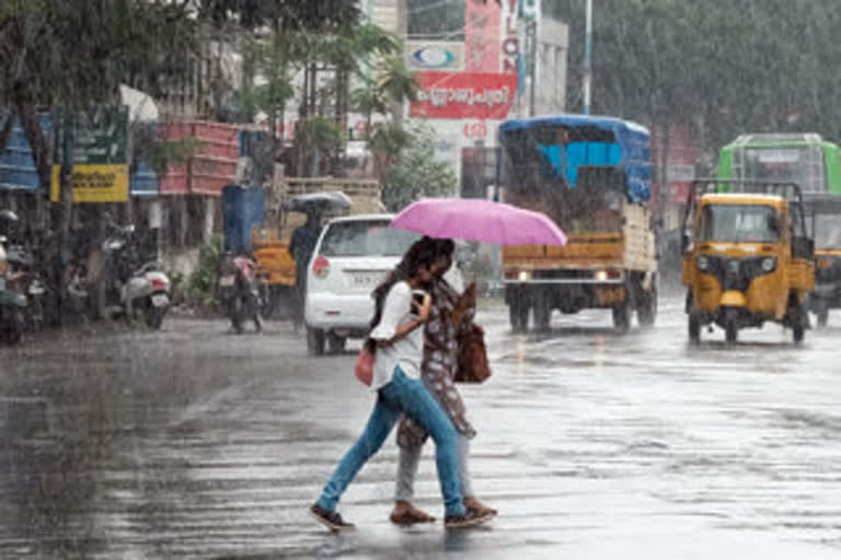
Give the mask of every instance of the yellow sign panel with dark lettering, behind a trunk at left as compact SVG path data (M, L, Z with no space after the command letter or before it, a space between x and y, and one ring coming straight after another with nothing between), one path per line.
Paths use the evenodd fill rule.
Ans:
M49 198L60 199L61 166L53 166ZM73 202L125 202L128 200L128 165L76 164L72 172Z

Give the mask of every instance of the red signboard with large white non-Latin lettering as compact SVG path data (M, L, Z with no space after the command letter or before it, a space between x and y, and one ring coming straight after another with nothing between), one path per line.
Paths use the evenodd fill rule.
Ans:
M412 117L506 119L517 95L517 75L485 72L417 72Z

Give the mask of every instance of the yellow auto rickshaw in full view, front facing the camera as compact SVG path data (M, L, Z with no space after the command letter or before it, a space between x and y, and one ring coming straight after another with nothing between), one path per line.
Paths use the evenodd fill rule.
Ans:
M815 247L797 185L699 179L683 220L689 340L716 324L729 343L739 329L772 320L804 337L815 288Z

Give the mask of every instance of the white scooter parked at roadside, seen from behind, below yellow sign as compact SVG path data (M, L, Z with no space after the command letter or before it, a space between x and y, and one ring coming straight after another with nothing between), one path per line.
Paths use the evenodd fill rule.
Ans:
M161 328L170 306L171 282L157 261L141 264L134 226L112 226L103 243L106 256L106 307L112 315L143 317L150 328Z

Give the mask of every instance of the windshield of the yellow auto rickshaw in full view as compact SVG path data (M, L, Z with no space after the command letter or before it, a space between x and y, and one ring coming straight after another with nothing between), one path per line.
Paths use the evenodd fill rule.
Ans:
M706 205L701 241L774 243L780 237L776 210L758 205Z

